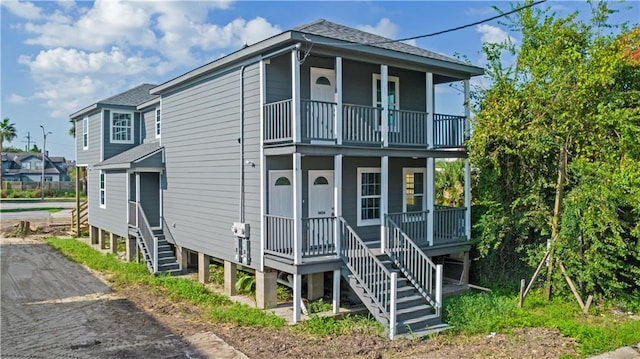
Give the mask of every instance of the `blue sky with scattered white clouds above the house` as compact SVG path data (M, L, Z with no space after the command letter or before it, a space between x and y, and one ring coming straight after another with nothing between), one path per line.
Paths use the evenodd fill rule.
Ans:
M640 1L611 2L613 23L640 23ZM0 116L52 156L75 159L69 115L142 83L161 84L221 56L317 19L408 38L480 21L510 9L506 1L15 1L0 0ZM548 1L565 16L581 1ZM499 20L411 40L484 67L483 42L507 38ZM483 79L475 79L483 85ZM461 96L461 95L460 95ZM437 96L436 96L437 97ZM436 103L437 105L437 103Z

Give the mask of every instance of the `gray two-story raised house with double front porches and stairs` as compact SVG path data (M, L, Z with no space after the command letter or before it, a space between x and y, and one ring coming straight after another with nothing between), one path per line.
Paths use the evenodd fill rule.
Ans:
M468 111L439 113L435 85L468 100L482 73L319 20L100 101L71 115L92 237L137 242L154 272L197 254L206 280L224 261L228 293L253 268L260 307L290 278L294 321L303 278L309 299L332 282L336 311L343 278L389 336L437 329L440 263L467 275L471 215ZM466 207L435 203L447 158L465 161Z

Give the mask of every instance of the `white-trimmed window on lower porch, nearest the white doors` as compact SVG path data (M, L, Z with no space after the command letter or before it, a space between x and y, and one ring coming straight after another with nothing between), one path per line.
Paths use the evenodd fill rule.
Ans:
M358 168L358 226L380 224L380 168Z

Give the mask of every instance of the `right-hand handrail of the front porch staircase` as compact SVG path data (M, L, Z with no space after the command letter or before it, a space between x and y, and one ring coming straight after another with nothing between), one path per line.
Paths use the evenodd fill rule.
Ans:
M436 315L440 316L442 312L442 265L435 264L388 215L385 215L385 220L387 227L385 253L436 310Z

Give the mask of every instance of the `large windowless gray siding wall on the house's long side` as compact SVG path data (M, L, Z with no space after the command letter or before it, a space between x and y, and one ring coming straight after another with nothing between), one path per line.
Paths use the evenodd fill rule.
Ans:
M231 225L239 221L244 168L245 221L251 225L251 267L256 268L261 187L258 64L245 69L244 87L245 160L255 167L240 163L239 69L163 95L163 214L178 245L234 260Z

